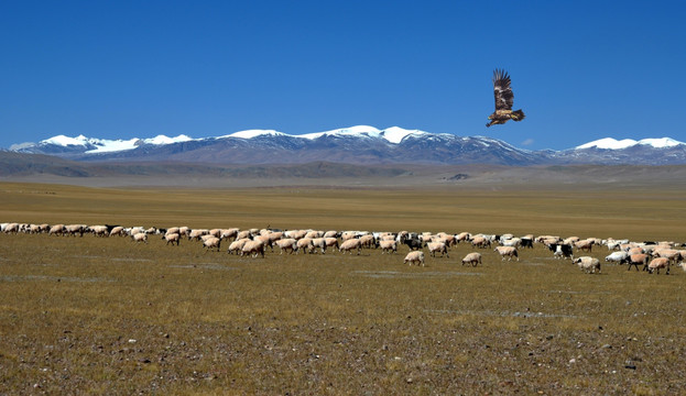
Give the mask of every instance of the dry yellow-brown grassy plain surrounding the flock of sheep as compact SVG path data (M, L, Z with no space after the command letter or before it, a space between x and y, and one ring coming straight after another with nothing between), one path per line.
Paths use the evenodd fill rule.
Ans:
M686 242L686 186L0 184L2 221ZM686 274L0 235L1 394L684 394ZM591 255L602 258L607 249Z

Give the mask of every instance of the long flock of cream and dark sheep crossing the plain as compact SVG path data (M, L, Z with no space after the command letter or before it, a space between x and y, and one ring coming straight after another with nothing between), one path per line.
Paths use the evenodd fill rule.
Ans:
M409 265L425 265L425 254L433 257L436 254L449 257L450 248L459 243L471 244L473 250L497 252L502 260L519 261L519 251L533 248L534 243L545 245L551 250L554 257L571 260L581 271L587 273L600 273L600 261L591 256L577 256L574 252L591 252L592 246L605 245L612 252L605 257L606 262L627 264L628 270L643 266L649 273L660 273L665 270L669 274L671 265L679 265L686 271L686 244L674 242L630 242L628 240L600 240L595 238L579 239L577 237L559 238L552 235L524 235L521 238L512 234L471 234L461 232L450 234L401 232L368 232L368 231L318 231L318 230L274 230L274 229L190 229L188 227L173 227L168 229L122 227L122 226L86 226L86 224L32 224L7 222L0 224L2 233L46 233L48 235L78 235L94 234L96 237L127 237L134 242L148 243L149 238L155 235L166 244L178 245L182 240L200 242L204 249L220 251L221 244L228 243L227 252L242 256L262 256L265 250L277 249L280 254L304 252L320 253L338 251L360 254L362 249L375 249L385 253L396 253L400 245L410 250L404 258ZM481 253L471 252L462 260L462 265L477 266L481 264Z

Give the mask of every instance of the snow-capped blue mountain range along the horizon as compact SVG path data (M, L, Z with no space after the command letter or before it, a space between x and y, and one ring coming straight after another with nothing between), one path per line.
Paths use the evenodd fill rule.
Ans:
M527 151L486 136L457 136L398 127L358 125L290 135L248 130L216 138L187 135L106 140L57 135L10 147L75 161L166 161L222 164L293 164L315 161L351 164L433 163L535 164L686 164L686 143L669 138L597 140L565 151Z

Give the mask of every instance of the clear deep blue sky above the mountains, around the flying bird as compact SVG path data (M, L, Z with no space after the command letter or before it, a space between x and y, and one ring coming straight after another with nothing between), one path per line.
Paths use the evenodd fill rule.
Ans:
M684 1L3 1L0 147L358 124L686 141ZM526 120L484 127L492 70Z

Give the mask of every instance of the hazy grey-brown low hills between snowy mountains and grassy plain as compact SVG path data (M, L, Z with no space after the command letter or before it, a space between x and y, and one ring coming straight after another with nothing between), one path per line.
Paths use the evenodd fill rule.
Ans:
M0 182L92 187L326 188L671 188L686 179L686 165L217 165L160 162L74 162L42 154L0 152ZM537 186L537 187L536 187ZM613 187L614 186L614 187ZM457 204L456 204L457 205Z

